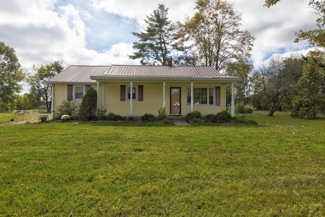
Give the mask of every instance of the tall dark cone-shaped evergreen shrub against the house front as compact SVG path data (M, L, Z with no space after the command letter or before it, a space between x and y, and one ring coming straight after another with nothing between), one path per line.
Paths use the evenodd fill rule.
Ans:
M97 108L97 91L90 87L85 96L82 98L80 104L78 118L82 120L93 120L96 118L96 108Z

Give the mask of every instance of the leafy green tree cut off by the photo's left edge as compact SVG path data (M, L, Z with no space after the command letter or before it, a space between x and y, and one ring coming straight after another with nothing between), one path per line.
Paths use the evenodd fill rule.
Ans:
M15 50L0 42L0 104L5 106L13 103L21 90L20 81L24 73L20 69Z

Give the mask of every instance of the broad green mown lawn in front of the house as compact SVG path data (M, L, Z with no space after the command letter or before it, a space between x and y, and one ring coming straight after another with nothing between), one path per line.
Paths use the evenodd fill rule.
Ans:
M0 216L323 216L325 119L0 127Z

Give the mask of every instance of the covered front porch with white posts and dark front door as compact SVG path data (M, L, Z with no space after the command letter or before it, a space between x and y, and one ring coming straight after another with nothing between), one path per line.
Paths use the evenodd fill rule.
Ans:
M215 114L226 109L225 86L232 85L231 115L234 111L234 81L96 79L97 107L123 116L158 115L165 108L167 115L186 115L200 111Z

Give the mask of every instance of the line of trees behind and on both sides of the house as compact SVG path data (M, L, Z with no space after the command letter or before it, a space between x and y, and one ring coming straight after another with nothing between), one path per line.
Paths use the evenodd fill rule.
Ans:
M271 7L276 1L265 1ZM254 70L250 52L255 40L241 26L242 14L234 10L234 3L226 0L197 0L196 13L184 22L168 18L168 8L158 4L146 16L146 28L132 33L138 38L129 55L140 59L142 65L167 65L173 60L177 66L211 66L224 75L237 76L236 102L259 110L291 111L295 117L315 117L325 109L324 91L324 1L309 2L319 18L317 29L296 32L295 42L307 40L316 49L306 56L274 57L268 64ZM51 86L48 79L63 70L62 61L49 65L34 65L34 73L21 70L14 49L0 43L0 109L35 107L41 100L50 110ZM31 88L29 94L18 96L20 81ZM228 102L231 91L226 92Z

